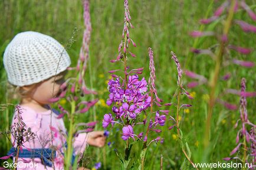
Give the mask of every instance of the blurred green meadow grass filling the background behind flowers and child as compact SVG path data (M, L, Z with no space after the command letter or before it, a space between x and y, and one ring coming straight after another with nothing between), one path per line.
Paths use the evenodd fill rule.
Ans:
M123 29L123 1L100 1L90 2L90 13L93 32L91 34L90 60L86 72L87 86L99 92L96 97L99 99L108 98L106 81L109 77L107 71L119 69L121 64L112 64L110 59L117 56L117 48L121 41ZM149 57L147 48L152 47L155 54L156 66L156 87L159 97L165 102L172 101L172 96L176 91L176 66L170 59L170 51L174 51L178 56L182 68L188 56L191 60L187 63L187 69L193 72L210 77L214 69L214 61L206 55L193 55L189 49L195 39L191 38L188 33L198 30L199 19L204 18L205 12L209 8L209 15L221 4L214 1L212 6L206 1L146 1L134 0L129 1L130 14L134 29L130 29L130 37L136 42L136 48L130 50L136 54L136 58L129 58L128 65L131 68L143 66L145 71L143 76L149 78ZM254 5L255 1L250 1L249 5ZM255 6L255 5L254 5ZM31 0L2 0L0 1L0 52L4 54L4 49L11 39L22 31L38 31L43 34L51 35L61 44L65 44L74 28L79 28L76 42L68 49L73 64L75 65L83 37L83 6L81 1L52 0L52 1L31 1ZM255 9L254 9L255 11ZM243 19L254 24L246 12L238 12L235 19ZM205 26L205 30L221 32L223 25L221 23ZM231 44L254 48L255 34L245 34L238 25L233 25L229 34ZM199 39L198 48L208 48L216 44L213 38ZM227 58L237 58L241 60L255 61L255 51L250 55L239 55L231 51L231 56ZM6 104L11 102L17 104L17 101L11 100L6 93L6 74L0 58L0 103ZM229 81L219 81L217 86L218 94L222 94L226 88L239 89L242 77L247 79L247 91L255 91L256 74L254 68L242 68L238 65L228 65L221 69L220 76L231 72L232 78ZM191 79L183 76L184 84ZM189 91L195 92L195 99L188 101L182 98L182 103L192 104L189 114L182 113L180 128L183 131L184 141L187 141L192 152L194 162L204 161L202 153L204 140L204 126L207 115L207 101L204 99L209 94L209 88L206 85L199 86ZM90 97L88 97L90 98ZM223 99L239 104L239 96L223 95ZM248 115L249 119L255 123L255 98L248 98ZM168 109L168 108L166 108ZM101 105L96 106L97 120L101 123L103 115L110 112L110 108ZM170 108L170 115L175 116L175 107ZM239 111L229 111L220 104L216 104L212 118L212 133L210 156L206 162L221 161L222 158L229 156L229 152L235 147L235 136L237 129L233 129L234 121L239 118ZM11 122L12 108L8 111L2 111L0 114L0 129L4 131ZM93 120L93 110L87 114L80 115L79 121ZM67 121L67 120L65 120ZM103 129L101 124L97 129ZM90 147L86 151L88 167L91 168L95 162L103 162L102 169L119 169L119 160L113 151L118 148L122 151L123 141L120 138L120 132L117 129L111 131L111 136L107 142L115 141L113 146L106 146L103 149ZM119 130L120 131L120 130ZM139 131L136 130L136 133ZM163 129L162 134L165 136L165 142L162 145L152 145L147 155L146 169L160 169L160 155L163 155L163 169L179 169L182 166L185 156L182 154L179 142L173 138L176 129L172 131ZM198 143L198 146L196 145ZM11 144L5 137L0 135L0 156L4 156ZM136 154L139 148L133 148L132 154ZM106 159L106 160L105 160ZM1 162L1 161L0 161ZM1 164L1 163L0 163ZM186 162L184 169L189 169L189 163ZM192 168L191 168L192 169Z

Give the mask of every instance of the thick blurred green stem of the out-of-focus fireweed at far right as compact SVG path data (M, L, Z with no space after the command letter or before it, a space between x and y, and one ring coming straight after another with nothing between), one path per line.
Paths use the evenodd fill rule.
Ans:
M224 25L223 36L228 35L229 29L231 27L232 19L234 16L234 7L235 7L235 0L232 0L232 4L231 4L231 7L229 8L229 12L228 12L228 18ZM211 93L210 93L210 99L209 99L208 116L207 116L207 120L206 120L205 137L204 137L204 147L205 148L207 148L209 145L209 133L210 133L210 129L211 129L212 112L213 112L214 104L215 104L215 91L216 91L216 85L217 85L218 78L219 78L219 71L221 69L222 56L224 54L224 49L225 49L225 42L221 41L221 45L220 45L220 48L219 48L219 51L218 51L217 57L216 57L214 75L212 76L211 84L209 84L209 86L211 87Z

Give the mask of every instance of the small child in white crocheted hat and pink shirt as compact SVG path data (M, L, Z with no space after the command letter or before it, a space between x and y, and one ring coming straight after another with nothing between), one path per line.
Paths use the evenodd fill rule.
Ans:
M34 139L22 144L18 169L64 167L66 129L63 119L57 118L59 113L48 104L50 99L60 94L60 86L70 62L70 57L60 43L38 32L17 34L5 49L4 66L8 81L17 86L21 96L19 111L15 111L12 126L17 125L17 114L20 112L25 129L31 128L35 134ZM83 153L87 144L104 146L106 138L103 134L103 131L78 134L73 142L74 155ZM15 141L14 136L11 141ZM9 154L16 153L16 148L17 144ZM15 154L13 156L15 161ZM29 161L35 166L26 166Z

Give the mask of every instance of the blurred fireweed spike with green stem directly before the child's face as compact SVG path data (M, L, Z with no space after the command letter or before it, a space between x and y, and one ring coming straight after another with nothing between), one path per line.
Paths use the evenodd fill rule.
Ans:
M87 68L87 61L89 57L89 45L90 45L90 35L91 35L91 21L90 21L90 8L89 8L89 1L83 0L83 8L84 8L84 35L83 35L83 43L80 49L80 54L77 60L76 68L70 68L70 70L75 70L78 72L77 75L73 78L69 78L68 81L65 82L64 85L62 85L63 88L61 88L63 92L60 96L62 98L67 99L68 102L70 102L71 105L71 111L67 112L69 109L65 109L64 106L61 106L61 104L58 104L58 107L61 109L61 115L60 118L64 115L68 116L69 120L69 131L67 136L67 149L65 150L65 155L67 157L65 158L65 169L70 168L71 158L73 155L73 136L77 135L80 132L90 132L93 131L94 126L91 126L93 124L87 124L86 129L81 129L77 131L77 127L75 125L75 118L77 114L84 114L87 112L92 106L94 106L97 103L97 99L94 99L93 101L84 101L84 95L86 94L96 94L96 92L91 91L90 89L87 89L86 82L84 80L84 74L86 72ZM72 38L74 37L73 33ZM89 126L90 125L90 126ZM81 155L79 156L78 160L81 159ZM79 162L79 161L78 161Z

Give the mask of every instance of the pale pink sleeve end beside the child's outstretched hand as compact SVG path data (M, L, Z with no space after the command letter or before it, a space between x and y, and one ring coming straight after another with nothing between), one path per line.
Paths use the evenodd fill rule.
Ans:
M74 139L74 152L76 155L82 154L87 146L87 139L88 135L87 133L80 133L78 136Z

